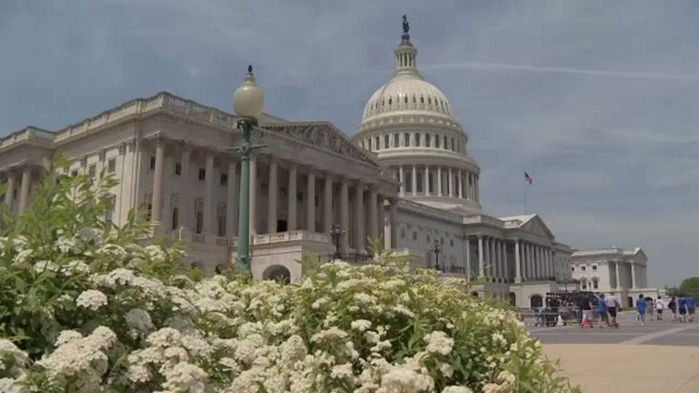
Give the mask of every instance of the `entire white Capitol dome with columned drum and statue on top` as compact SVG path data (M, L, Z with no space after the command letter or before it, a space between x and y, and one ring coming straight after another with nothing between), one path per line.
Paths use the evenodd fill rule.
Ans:
M481 168L468 156L468 134L449 98L420 75L418 50L403 17L396 68L364 106L352 140L376 154L400 182L400 196L461 215L480 214Z

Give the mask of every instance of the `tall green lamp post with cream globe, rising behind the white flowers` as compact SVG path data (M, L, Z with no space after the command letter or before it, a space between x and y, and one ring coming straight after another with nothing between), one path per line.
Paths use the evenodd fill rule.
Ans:
M262 115L265 98L262 90L255 83L252 75L252 65L248 65L248 74L243 79L243 85L233 94L233 110L238 116L238 128L243 130L243 144L236 150L240 151L240 200L238 206L238 264L244 271L250 271L250 156L252 146L250 134L258 125L258 117Z

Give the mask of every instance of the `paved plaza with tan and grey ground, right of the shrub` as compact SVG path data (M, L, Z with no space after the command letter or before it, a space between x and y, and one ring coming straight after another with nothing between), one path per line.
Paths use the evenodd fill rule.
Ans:
M649 318L650 319L650 318ZM647 320L624 312L620 328L532 328L546 355L583 392L699 392L699 323Z

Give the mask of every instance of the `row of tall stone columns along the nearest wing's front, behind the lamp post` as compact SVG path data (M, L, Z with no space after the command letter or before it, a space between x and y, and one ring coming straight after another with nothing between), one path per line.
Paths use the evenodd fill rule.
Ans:
M165 148L166 144L163 140L156 141L156 157L155 170L153 176L153 200L151 220L154 226L159 225L162 214L163 200L163 174L165 165ZM181 170L183 174L189 174L191 149L183 148L181 156ZM206 156L206 177L204 183L204 206L203 210L203 232L215 233L215 209L214 209L214 158L216 152L208 151ZM236 161L228 162L228 185L227 185L227 206L238 207L238 181L237 170L238 163ZM277 231L277 221L279 218L279 161L272 158L269 161L269 176L268 176L268 206L267 222L268 233ZM287 192L287 229L299 229L299 217L297 207L298 183L299 183L299 166L295 163L289 164L289 179ZM316 172L312 169L305 174L306 181L306 226L303 229L309 232L325 232L328 233L334 222L339 222L339 226L344 229L353 229L352 244L349 244L349 234L342 237L341 248L343 250L349 247L356 250L364 250L367 246L367 237L379 237L383 235L383 204L384 196L378 194L375 186L362 183L360 180L350 180L347 177L336 177L330 174L322 175L322 209L321 209L321 226L316 226ZM339 217L334 217L333 214L333 188L339 183ZM251 235L258 234L258 160L257 156L252 156L250 159L250 195L249 195L249 232ZM183 206L193 206L189 193L189 182L184 179L180 188ZM352 188L352 205L349 206L349 189ZM365 198L365 193L367 197ZM366 200L365 200L366 199ZM395 203L391 201L391 220L395 225ZM365 208L366 207L366 208ZM350 212L353 213L350 217ZM237 234L238 231L238 208L226 209L226 233ZM182 227L191 229L191 215L183 215ZM351 222L350 222L351 220ZM394 237L396 231L391 232L391 237ZM396 244L396 239L391 239L392 244Z

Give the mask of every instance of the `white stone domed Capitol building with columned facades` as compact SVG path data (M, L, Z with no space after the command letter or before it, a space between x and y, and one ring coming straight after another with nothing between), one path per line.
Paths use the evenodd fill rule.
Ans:
M339 225L350 260L368 253L367 238L383 237L413 267L477 279L481 295L518 306L571 287L572 248L542 217L481 210L469 134L447 96L420 75L407 31L394 54L393 76L370 96L351 137L324 121L259 119L256 142L265 147L250 170L253 275L300 277L299 259L334 253L329 231ZM71 160L66 173L119 180L108 215L115 224L144 208L157 236L181 241L187 263L213 272L236 263L240 165L230 147L241 139L235 116L165 92L57 131L28 126L0 142L5 200L17 214L30 207L42 161L61 151ZM644 264L634 270L643 283Z

